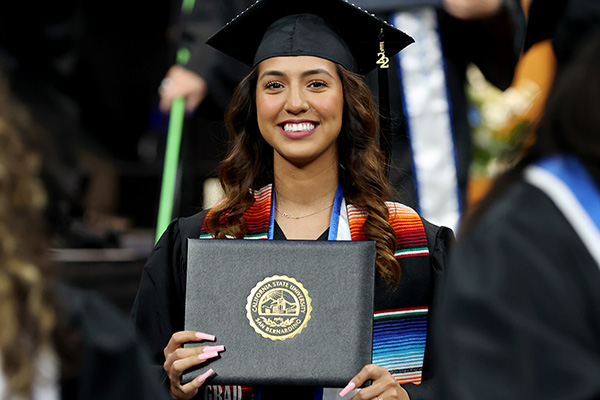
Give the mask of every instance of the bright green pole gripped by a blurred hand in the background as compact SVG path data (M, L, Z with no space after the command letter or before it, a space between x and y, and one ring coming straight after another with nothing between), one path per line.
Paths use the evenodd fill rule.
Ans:
M181 5L182 12L191 12L194 8L194 2L195 0L183 0ZM186 65L189 59L189 50L186 48L179 49L177 52L177 64ZM160 189L155 242L158 242L158 239L160 239L173 218L173 203L177 187L177 169L179 164L179 150L181 148L184 115L185 99L183 97L178 97L173 100L169 116L169 129L167 132L167 147L165 150L165 162Z

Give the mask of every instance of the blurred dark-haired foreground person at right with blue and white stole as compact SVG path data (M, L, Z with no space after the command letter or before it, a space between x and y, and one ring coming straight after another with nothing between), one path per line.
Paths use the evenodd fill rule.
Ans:
M535 144L461 228L434 321L441 398L600 398L599 26L578 27Z

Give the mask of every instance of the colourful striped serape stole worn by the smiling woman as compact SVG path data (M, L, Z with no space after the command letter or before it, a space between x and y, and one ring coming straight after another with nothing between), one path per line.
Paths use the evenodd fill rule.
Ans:
M248 226L245 239L267 239L271 194L272 185L255 192L254 204L244 213L244 221ZM390 223L396 232L396 259L429 256L427 236L419 215L412 208L399 203L386 202L386 206ZM367 214L352 204L347 205L347 211L352 240L367 240L363 232ZM206 220L200 238L211 238ZM421 383L427 321L428 307L375 312L373 363L387 368L399 383Z

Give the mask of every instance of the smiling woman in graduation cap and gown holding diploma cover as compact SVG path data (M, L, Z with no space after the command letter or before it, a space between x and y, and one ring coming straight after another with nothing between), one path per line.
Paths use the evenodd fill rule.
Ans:
M342 395L372 379L373 385L356 399L426 396L426 385L410 382L419 383L427 367L427 310L452 234L407 207L385 202L389 186L375 140L377 111L368 87L351 72L375 66L382 32L386 49L391 49L388 56L409 42L402 32L342 0L263 0L209 41L253 66L226 116L230 148L219 168L225 200L171 224L144 268L132 311L138 333L168 375L174 398L195 396L208 376L182 386L182 371L222 350L181 348L185 342L212 339L182 331L186 238L198 237L376 241L375 309L380 315L374 360L381 365L365 367ZM365 40L373 46L360 49ZM341 207L334 207L338 203ZM387 330L381 328L384 324ZM405 329L410 324L416 329ZM397 340L385 340L390 336ZM417 343L417 361L402 356L409 339ZM401 360L385 364L390 353L400 354ZM240 393L204 388L207 398L228 390ZM281 388L254 388L253 393L263 399L331 394L313 388L277 390ZM243 398L252 395L251 388L241 392Z

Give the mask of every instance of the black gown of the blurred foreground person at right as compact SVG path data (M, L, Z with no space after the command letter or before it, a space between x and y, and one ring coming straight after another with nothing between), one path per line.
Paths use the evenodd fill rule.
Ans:
M544 193L509 189L450 264L441 398L600 398L600 269Z

